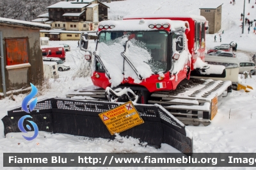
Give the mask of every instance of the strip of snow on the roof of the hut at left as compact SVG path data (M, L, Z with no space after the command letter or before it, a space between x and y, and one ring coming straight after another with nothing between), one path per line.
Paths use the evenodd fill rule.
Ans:
M13 24L18 26L26 26L26 27L36 27L36 28L42 28L42 29L51 29L51 26L47 24L40 24L36 22L29 22L24 20L16 20L16 19L6 19L0 17L0 24Z

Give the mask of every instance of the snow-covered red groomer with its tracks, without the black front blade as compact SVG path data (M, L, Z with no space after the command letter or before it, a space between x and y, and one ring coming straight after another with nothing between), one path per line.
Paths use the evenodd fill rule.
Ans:
M189 79L225 77L225 66L204 63L207 23L197 15L134 15L100 22L94 58L86 47L87 34L81 36L94 86L67 97L159 104L186 125L209 125L218 97L232 88L230 81Z

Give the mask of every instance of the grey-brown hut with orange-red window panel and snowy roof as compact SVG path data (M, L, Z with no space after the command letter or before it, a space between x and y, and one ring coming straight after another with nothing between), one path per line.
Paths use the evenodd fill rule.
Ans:
M24 88L30 87L30 83L42 84L44 70L40 29L51 27L47 24L0 18L0 55L3 55L1 96L5 91L7 95L24 91Z

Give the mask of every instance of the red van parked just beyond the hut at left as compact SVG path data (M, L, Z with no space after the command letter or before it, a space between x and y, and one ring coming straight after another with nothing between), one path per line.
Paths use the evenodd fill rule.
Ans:
M43 57L50 57L50 58L60 58L63 61L66 59L66 52L64 47L41 47L42 49L42 56Z

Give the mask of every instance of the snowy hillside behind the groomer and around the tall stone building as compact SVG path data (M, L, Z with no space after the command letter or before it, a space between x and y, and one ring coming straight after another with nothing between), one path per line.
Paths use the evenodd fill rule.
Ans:
M215 1L203 1L203 0L126 0L126 1L116 1L111 3L105 3L109 6L108 16L111 20L122 19L125 15L138 15L138 14L164 14L172 13L175 15L179 14L194 14L200 15L200 7L205 4L222 4L222 22L221 30L216 35L219 35L224 30L221 43L237 42L238 50L244 50L247 52L256 52L255 43L256 35L253 34L253 27L255 27L255 22L253 22L253 27L251 27L250 34L248 34L248 26L244 27L244 34L242 35L242 21L241 13L243 13L243 0L236 0L236 4L230 4L230 1L226 0L215 0ZM245 17L250 20L256 20L256 4L251 1L245 3ZM252 8L252 6L255 8ZM250 13L250 15L248 15ZM207 48L220 45L220 39L217 36L217 42L214 43L214 35L207 35Z

